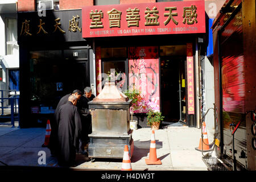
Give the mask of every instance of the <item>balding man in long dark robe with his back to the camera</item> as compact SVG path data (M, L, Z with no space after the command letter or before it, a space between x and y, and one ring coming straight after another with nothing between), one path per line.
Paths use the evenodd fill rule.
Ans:
M82 126L76 103L77 97L69 96L68 102L60 106L56 113L56 121L59 123L57 158L60 166L73 166L76 151L79 152Z

